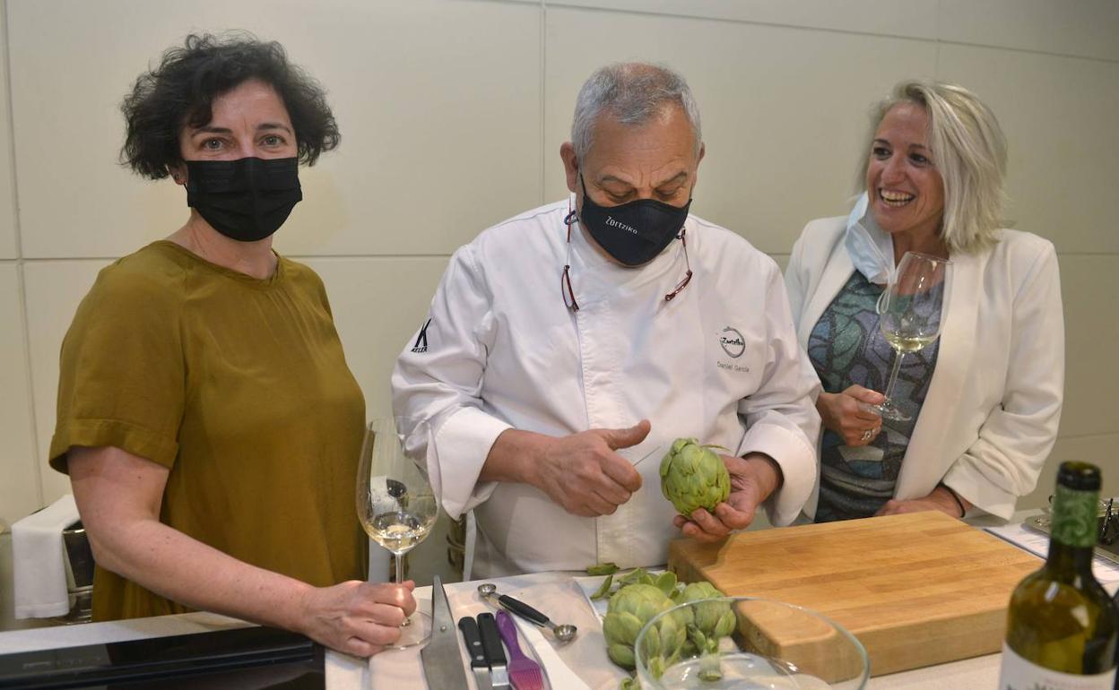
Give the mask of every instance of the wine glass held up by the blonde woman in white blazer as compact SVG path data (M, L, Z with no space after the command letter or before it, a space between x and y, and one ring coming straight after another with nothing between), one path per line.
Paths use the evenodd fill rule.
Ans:
M913 418L894 401L894 384L905 353L922 350L940 335L951 270L952 262L947 258L906 252L890 285L878 297L878 328L894 349L886 399L876 407L884 419L909 422Z

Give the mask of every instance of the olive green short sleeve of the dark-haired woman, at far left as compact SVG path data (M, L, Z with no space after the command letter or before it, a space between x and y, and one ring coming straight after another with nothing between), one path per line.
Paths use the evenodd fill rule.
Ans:
M63 340L50 466L72 446L116 446L175 464L186 371L181 276L116 262L97 276Z

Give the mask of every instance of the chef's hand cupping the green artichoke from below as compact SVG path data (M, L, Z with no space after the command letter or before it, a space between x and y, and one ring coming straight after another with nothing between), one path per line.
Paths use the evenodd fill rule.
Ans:
M721 455L731 473L731 495L715 507L715 512L697 508L688 520L676 516L673 522L685 536L697 541L718 541L733 530L745 529L754 521L762 501L781 486L781 467L763 453L745 457Z

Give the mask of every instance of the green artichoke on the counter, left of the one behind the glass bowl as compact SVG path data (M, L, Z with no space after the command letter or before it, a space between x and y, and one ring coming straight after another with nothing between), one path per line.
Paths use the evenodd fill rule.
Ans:
M610 660L632 670L638 633L653 616L674 605L673 599L655 585L627 585L614 593L602 620L602 634L606 639ZM650 658L673 659L686 640L685 622L674 615L664 616L646 633L645 649Z

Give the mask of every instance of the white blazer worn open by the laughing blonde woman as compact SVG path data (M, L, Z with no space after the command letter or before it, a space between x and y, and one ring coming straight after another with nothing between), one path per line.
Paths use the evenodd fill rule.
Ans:
M786 284L797 339L855 270L847 219L808 224ZM1046 239L999 230L980 254L953 254L937 367L894 489L928 495L943 481L977 508L1009 519L1053 448L1064 389L1064 318L1056 252ZM819 486L806 505L815 514Z

